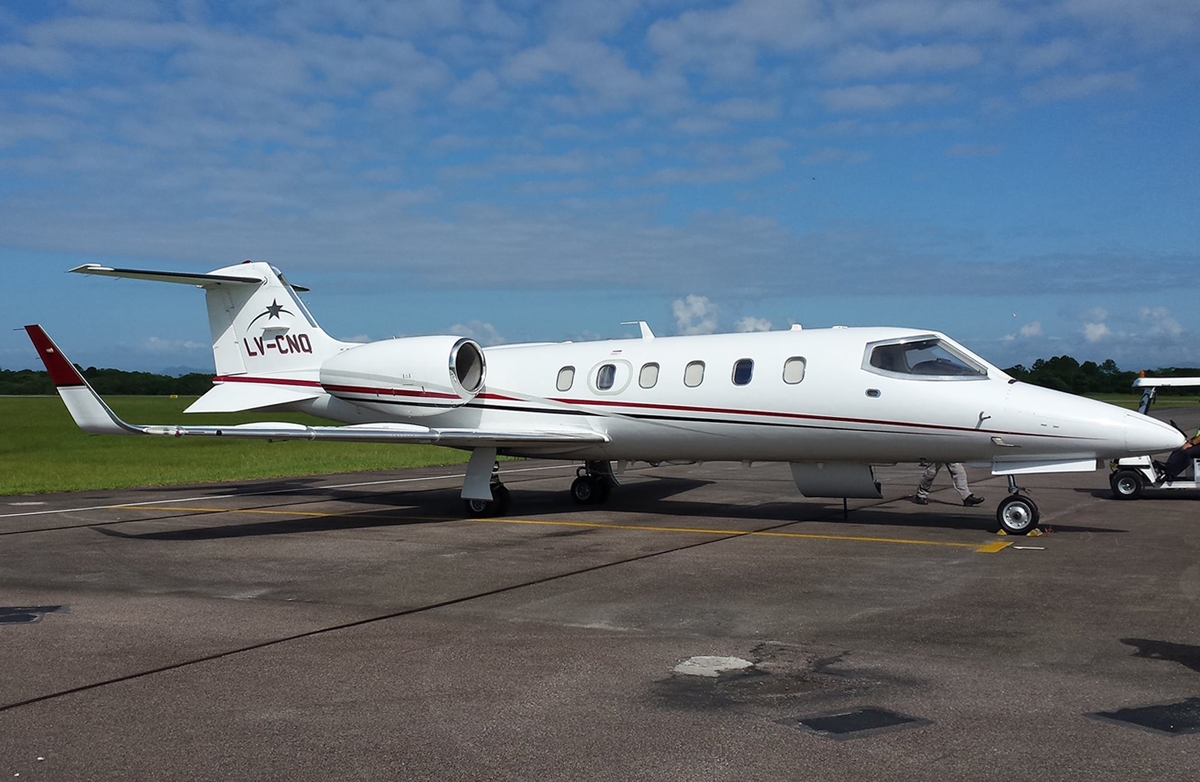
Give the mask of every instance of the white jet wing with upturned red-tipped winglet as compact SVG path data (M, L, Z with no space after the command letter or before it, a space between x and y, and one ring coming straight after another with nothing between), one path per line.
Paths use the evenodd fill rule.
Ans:
M80 429L91 434L158 434L164 437L227 437L259 440L328 440L340 443L424 443L450 447L515 447L522 445L586 445L607 443L607 434L590 429L450 429L412 423L305 426L262 422L230 426L143 425L122 421L88 384L73 363L38 326L25 326L50 380Z

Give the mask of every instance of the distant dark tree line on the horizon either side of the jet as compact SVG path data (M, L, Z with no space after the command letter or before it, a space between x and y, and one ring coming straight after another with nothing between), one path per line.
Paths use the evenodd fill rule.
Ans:
M79 367L79 365L76 365ZM192 372L172 377L150 372L125 372L124 369L97 369L88 367L83 377L88 378L98 393L136 395L136 396L199 396L212 387L212 375L204 372ZM1070 393L1129 393L1135 395L1133 380L1135 372L1122 372L1109 359L1103 363L1085 361L1080 363L1070 356L1038 359L1033 366L1022 365L1004 369L1018 380L1033 385L1068 391ZM1163 367L1147 374L1158 378L1200 377L1196 367ZM46 372L34 369L0 369L0 396L52 395L54 384ZM1160 393L1195 395L1192 389L1163 389Z

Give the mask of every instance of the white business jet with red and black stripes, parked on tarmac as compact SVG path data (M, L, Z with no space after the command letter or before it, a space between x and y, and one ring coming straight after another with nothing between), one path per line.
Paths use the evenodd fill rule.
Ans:
M787 462L806 497L880 498L874 465L986 464L1008 476L996 518L1038 525L1015 476L1177 447L1172 427L1019 383L935 331L814 329L481 348L456 336L371 343L326 335L262 261L178 273L72 271L203 288L214 387L187 413L298 410L342 426L132 425L92 391L41 326L26 330L71 415L102 434L433 443L472 451L468 512L503 513L497 455L580 461L571 485L600 503L625 464ZM613 462L618 468L612 468Z

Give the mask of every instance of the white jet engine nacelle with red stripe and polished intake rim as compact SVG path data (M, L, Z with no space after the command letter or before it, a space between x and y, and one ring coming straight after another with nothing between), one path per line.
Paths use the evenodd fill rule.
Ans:
M325 360L320 384L353 404L415 417L470 402L486 374L484 350L474 339L403 337L356 345Z

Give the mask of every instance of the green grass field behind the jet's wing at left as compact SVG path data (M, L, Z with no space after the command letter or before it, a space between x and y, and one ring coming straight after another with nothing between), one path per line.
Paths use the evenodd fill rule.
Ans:
M193 399L107 402L133 423L329 423L294 414L182 415ZM434 445L90 435L56 396L0 397L0 495L390 470L467 458L464 451Z

